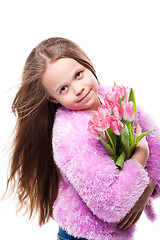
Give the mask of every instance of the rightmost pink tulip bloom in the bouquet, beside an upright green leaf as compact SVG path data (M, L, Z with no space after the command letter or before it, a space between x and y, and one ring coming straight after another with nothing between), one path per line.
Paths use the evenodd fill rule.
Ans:
M127 122L132 122L134 120L134 104L132 101L122 101L122 116L123 119Z

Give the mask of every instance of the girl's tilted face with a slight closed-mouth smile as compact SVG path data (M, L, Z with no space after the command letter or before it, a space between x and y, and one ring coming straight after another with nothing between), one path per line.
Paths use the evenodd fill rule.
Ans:
M93 73L72 58L48 64L42 84L48 99L71 110L97 110L98 82Z

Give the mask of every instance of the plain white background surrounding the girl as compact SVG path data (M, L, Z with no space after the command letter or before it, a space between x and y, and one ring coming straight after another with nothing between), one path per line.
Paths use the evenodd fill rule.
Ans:
M159 119L160 81L159 1L118 0L5 0L0 3L0 196L5 190L9 146L15 126L11 102L30 51L49 37L78 43L92 60L104 85L135 89L136 100ZM160 239L160 199L154 201L158 220L143 214L135 240ZM0 202L3 239L56 239L58 225L41 229L37 219L16 216L13 198ZM154 237L153 237L154 234ZM0 238L2 238L0 236Z

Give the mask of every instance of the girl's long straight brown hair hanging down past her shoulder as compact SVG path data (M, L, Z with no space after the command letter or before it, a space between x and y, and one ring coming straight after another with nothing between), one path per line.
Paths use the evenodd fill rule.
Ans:
M97 78L90 59L77 44L65 38L50 38L28 56L21 86L12 104L17 123L7 189L11 185L16 191L20 209L26 206L30 217L38 213L40 226L53 218L61 176L52 149L58 104L47 99L41 80L48 63L65 57L75 59Z

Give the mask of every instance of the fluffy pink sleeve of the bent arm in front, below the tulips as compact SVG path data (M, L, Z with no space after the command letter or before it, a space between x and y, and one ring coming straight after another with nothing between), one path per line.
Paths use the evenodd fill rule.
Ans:
M59 111L53 128L54 160L64 179L100 219L117 222L142 195L147 172L133 159L119 172L101 142L87 132L89 118L80 111ZM87 124L86 124L87 123Z

